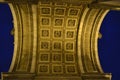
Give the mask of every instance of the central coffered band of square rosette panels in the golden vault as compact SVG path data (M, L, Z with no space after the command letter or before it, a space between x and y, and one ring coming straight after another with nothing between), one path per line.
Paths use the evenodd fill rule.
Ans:
M74 8L74 6L68 4L64 6L63 4L58 5L52 2L49 4L39 2L38 5L37 55L43 55L46 51L49 54L46 57L37 57L39 60L40 58L43 60L48 60L49 58L49 62L47 63L39 63L37 61L37 65L49 66L46 67L46 72L49 71L47 73L42 71L41 66L38 66L38 75L39 73L42 75L44 73L45 75L78 75L76 35L80 9L82 7ZM71 68L74 70L73 73L70 71L72 70ZM68 70L66 71L66 69Z

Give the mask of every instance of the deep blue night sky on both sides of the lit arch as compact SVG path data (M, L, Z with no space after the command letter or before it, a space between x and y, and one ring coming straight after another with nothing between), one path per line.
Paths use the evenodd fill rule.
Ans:
M0 4L0 72L9 70L14 39L10 34L12 14L7 4ZM120 80L120 11L110 11L105 17L98 41L100 62L106 73L112 73L112 80Z

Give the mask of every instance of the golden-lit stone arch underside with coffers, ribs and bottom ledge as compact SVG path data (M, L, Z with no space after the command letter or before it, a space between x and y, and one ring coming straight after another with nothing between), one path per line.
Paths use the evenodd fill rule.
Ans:
M39 1L9 3L14 55L2 80L111 80L98 56L98 34L107 9Z

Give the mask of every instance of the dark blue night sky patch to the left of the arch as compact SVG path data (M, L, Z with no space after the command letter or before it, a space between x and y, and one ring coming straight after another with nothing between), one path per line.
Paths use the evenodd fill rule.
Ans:
M7 4L0 4L0 72L7 72L13 55L12 15Z

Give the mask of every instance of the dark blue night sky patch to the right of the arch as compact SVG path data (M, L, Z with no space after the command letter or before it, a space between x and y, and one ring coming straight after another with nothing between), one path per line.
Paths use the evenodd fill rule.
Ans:
M111 72L112 80L120 80L120 11L110 11L100 32L99 56L105 72Z

